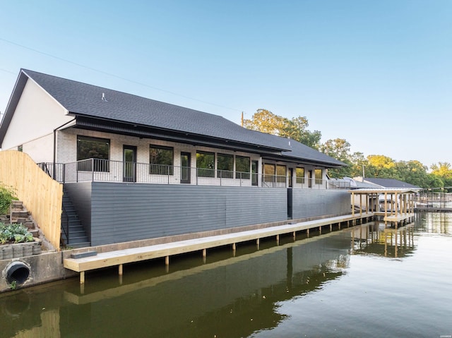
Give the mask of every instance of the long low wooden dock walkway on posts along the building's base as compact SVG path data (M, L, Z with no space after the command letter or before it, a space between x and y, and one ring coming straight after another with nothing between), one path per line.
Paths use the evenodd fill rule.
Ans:
M279 241L281 234L292 233L294 238L297 231L307 231L309 229L329 226L330 231L333 224L338 224L339 228L342 223L347 222L347 227L350 222L357 219L367 219L373 217L374 212L362 213L360 215L345 215L340 217L330 217L325 219L316 219L314 221L300 222L296 224L285 224L278 227L268 227L263 229L255 229L250 231L240 231L232 234L224 234L220 236L203 237L200 239L189 239L186 241L175 241L171 243L157 244L153 246L144 246L140 248L127 248L118 251L109 251L99 253L90 257L83 258L66 258L64 259L64 267L69 270L80 272L80 282L85 282L85 271L96 270L102 267L119 267L119 274L122 274L123 265L130 262L139 262L142 260L152 260L154 258L165 257L165 264L169 264L169 256L180 253L189 253L194 251L202 251L203 256L206 256L208 248L215 248L218 246L232 245L232 250L235 250L236 243L244 241L256 240L258 244L259 239L275 236L276 241Z

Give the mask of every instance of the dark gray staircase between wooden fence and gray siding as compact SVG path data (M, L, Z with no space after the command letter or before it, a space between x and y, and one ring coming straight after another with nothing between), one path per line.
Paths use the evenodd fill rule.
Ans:
M63 186L63 212L61 213L61 243L71 248L91 246L85 227L78 218L69 192Z

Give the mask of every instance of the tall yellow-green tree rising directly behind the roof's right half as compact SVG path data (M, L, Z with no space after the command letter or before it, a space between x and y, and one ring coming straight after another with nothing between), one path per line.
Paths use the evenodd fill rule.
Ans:
M282 138L292 138L308 147L319 149L320 131L309 131L308 120L304 116L287 119L273 114L267 109L257 109L251 119L244 119L243 126L253 131L261 131L278 135Z

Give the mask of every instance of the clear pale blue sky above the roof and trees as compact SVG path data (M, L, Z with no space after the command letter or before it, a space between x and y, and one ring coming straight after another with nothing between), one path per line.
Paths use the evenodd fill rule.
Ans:
M306 116L322 143L452 163L452 1L0 0L20 68L220 115Z

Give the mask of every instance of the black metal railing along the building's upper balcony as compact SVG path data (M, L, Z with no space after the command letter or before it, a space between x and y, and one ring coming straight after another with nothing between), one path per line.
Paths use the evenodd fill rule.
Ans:
M53 179L62 182L109 181L157 184L193 184L198 186L261 186L286 188L287 176L258 174L194 167L177 167L162 164L83 159L66 164L39 163L38 166ZM297 188L328 188L328 181L299 179ZM331 187L338 188L338 187Z

